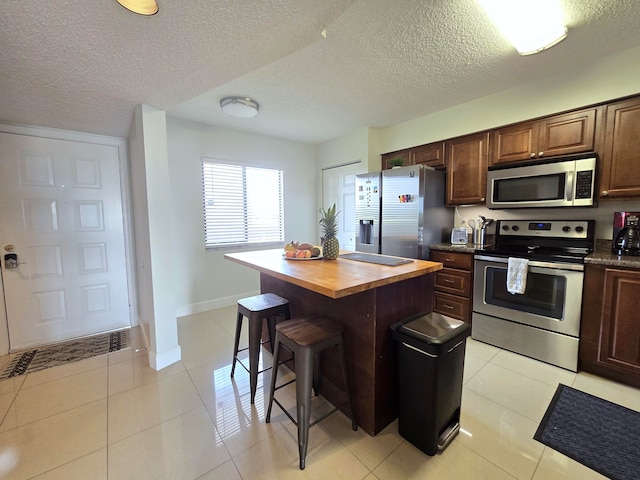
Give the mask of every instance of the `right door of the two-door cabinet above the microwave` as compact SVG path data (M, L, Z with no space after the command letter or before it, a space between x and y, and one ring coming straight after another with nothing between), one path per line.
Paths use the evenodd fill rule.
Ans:
M537 157L593 151L596 109L540 120Z

